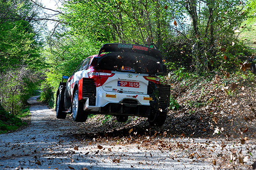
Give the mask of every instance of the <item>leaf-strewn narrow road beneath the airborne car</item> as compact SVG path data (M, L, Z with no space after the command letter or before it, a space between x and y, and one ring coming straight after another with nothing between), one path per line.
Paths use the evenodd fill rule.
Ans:
M36 102L37 97L28 101L32 104L31 124L23 130L0 135L0 169L209 170L219 167L220 163L215 164L214 160L223 155L220 140L83 135L81 127L86 124L72 122L70 118L56 119L55 112L47 105ZM231 146L232 142L225 148Z

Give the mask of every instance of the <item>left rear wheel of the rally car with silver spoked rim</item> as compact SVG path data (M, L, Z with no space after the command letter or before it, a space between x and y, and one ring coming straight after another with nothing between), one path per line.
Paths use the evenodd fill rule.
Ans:
M84 111L84 103L78 100L78 90L73 95L72 112L75 122L85 122L88 117L88 113Z

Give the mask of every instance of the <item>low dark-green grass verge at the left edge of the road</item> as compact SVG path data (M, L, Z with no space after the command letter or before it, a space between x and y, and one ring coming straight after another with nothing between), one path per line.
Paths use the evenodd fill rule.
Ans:
M22 120L17 116L9 114L0 105L0 134L17 130L20 126L25 125L25 122L22 122Z

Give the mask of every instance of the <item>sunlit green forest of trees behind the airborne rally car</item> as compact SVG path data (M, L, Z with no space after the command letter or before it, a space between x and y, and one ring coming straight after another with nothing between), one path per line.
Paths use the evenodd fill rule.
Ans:
M246 65L239 70L255 56L248 48L256 46L255 0L60 1L61 8L50 10L37 0L0 0L2 118L6 111L22 114L37 89L53 107L61 77L105 43L145 45L150 37L171 72L160 77L167 83L217 74L255 78Z

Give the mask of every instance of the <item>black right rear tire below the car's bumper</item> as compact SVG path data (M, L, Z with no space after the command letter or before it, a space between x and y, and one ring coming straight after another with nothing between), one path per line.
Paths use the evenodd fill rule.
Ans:
M152 109L151 114L148 117L148 123L151 126L162 126L166 121L166 118L167 118L167 111L160 112Z

